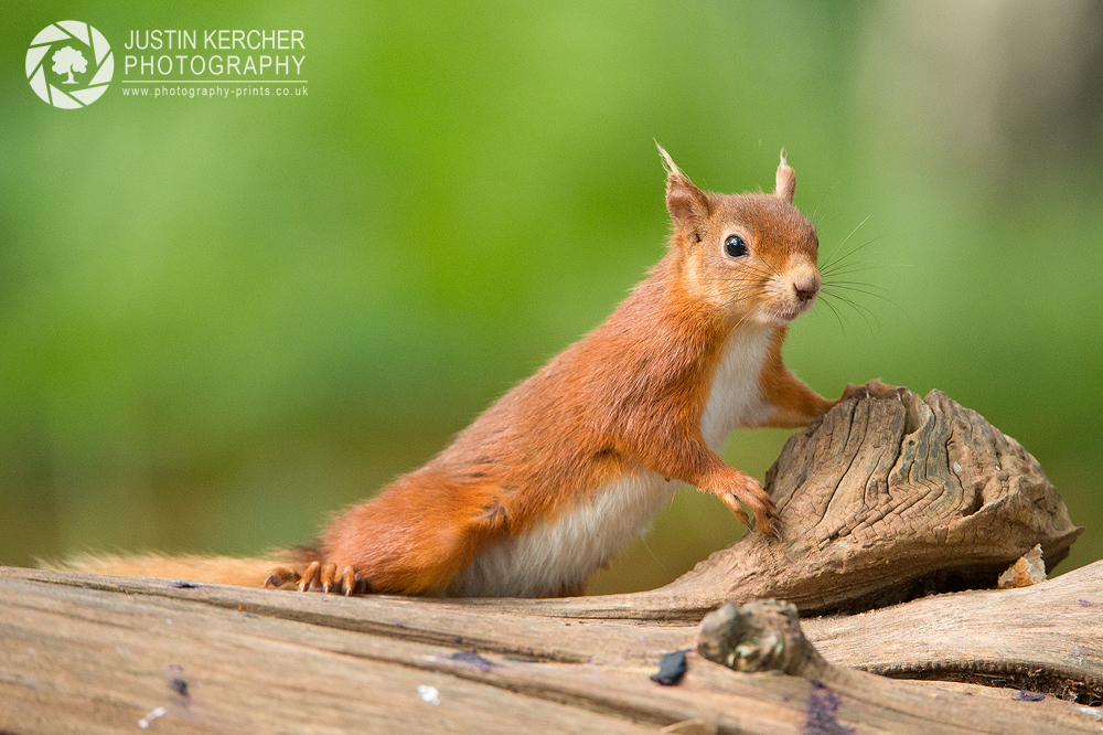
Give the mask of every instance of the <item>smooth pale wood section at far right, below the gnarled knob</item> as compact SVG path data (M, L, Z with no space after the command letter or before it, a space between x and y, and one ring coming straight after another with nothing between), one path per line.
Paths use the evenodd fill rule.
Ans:
M838 665L1103 704L1103 562L1032 587L935 595L813 618L804 630Z

